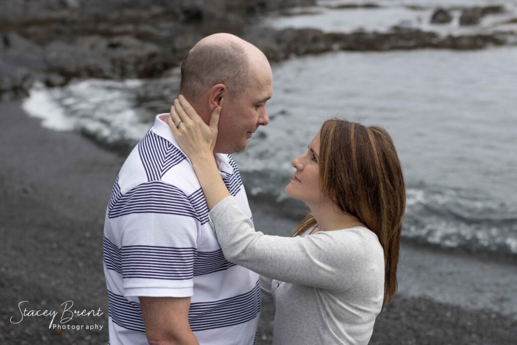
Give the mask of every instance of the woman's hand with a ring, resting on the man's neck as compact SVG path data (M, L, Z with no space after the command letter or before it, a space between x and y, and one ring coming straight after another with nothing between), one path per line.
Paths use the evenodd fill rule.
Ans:
M207 126L183 95L179 95L178 99L174 100L168 122L169 127L179 146L191 161L207 157L208 154L213 157L220 113L221 107L214 109L210 125Z

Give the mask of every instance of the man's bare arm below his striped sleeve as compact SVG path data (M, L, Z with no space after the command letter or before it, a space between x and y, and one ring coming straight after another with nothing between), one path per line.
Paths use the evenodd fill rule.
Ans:
M150 345L199 345L189 325L190 297L139 297Z

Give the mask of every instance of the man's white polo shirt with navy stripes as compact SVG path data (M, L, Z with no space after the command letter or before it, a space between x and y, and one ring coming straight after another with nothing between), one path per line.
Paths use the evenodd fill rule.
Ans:
M104 223L111 345L147 344L139 296L191 297L200 344L253 344L258 275L226 261L190 160L164 119L136 145L116 178ZM216 154L223 181L251 218L239 170Z

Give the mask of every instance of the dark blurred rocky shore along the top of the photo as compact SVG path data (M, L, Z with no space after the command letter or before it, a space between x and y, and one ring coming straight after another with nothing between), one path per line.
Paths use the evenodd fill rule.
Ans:
M0 99L27 96L35 81L62 86L74 78L156 78L178 66L197 40L213 32L242 36L271 61L332 50L482 49L514 44L517 37L508 31L442 36L395 26L389 32L326 33L257 24L265 13L314 4L315 0L5 0L0 3ZM447 22L448 10L452 9L438 9L430 20ZM465 8L464 21L501 11L500 6Z

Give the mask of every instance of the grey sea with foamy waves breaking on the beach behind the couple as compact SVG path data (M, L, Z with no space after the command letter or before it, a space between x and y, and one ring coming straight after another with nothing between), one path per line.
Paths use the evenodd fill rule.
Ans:
M270 124L234 155L250 198L300 219L306 209L283 191L292 159L328 117L377 124L391 134L404 169L404 238L517 256L517 47L332 52L272 69ZM168 112L178 83L176 71L155 80L36 85L23 107L45 127L124 149Z

